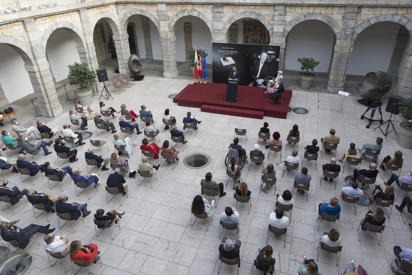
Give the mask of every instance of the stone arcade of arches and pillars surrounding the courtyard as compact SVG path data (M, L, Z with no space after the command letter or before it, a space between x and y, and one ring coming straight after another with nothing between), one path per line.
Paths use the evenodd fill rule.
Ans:
M45 49L49 36L56 29L64 28L76 42L80 61L88 63L91 70L96 70L98 62L93 30L97 21L102 18L108 22L113 32L120 73L128 71L127 60L130 53L126 30L130 17L138 14L150 19L160 34L165 78L176 78L178 75L175 28L177 21L183 16L191 15L203 20L212 34L213 42L227 42L229 28L238 19L259 20L269 31L270 44L281 46L280 69L284 67L286 37L289 31L306 20L323 21L332 28L336 38L328 80L330 93L337 93L343 88L353 42L365 28L377 22L391 21L405 26L409 34L412 32L412 5L400 7L400 0L399 5L391 4L396 7L372 7L366 4L345 6L343 0L338 1L342 3L336 6L105 2L108 1L75 3L52 9L0 15L0 43L9 45L22 57L42 115L51 117L62 111L46 58ZM412 93L411 43L410 39L394 94L408 96ZM95 88L99 89L100 85Z

